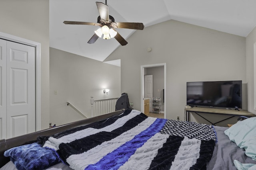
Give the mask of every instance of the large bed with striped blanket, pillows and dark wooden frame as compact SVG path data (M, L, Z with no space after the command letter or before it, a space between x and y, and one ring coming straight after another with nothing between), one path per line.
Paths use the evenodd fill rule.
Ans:
M255 153L252 153L256 147L255 138L248 140L244 136L241 140L250 141L250 146L246 144L250 150L248 153L247 148L241 149L244 143L236 137L239 130L246 131L246 128L241 128L244 125L248 129L246 134L253 136L255 117L228 129L153 118L134 109L122 109L1 140L0 167L1 170L14 170L16 167L51 170L249 170L256 164ZM241 148L230 140L240 142Z

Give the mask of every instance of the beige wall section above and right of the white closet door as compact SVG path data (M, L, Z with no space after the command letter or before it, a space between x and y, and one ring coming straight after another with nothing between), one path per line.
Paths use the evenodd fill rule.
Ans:
M1 0L0 32L41 43L41 128L49 125L49 0Z

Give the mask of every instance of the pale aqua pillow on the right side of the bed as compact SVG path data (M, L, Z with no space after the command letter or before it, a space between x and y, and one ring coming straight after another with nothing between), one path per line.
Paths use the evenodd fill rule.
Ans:
M224 133L230 141L245 150L245 154L256 160L256 117L251 117L228 128Z

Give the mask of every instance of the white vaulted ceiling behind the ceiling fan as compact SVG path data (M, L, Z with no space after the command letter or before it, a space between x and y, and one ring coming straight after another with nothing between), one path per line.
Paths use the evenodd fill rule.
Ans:
M87 43L99 26L62 23L97 22L96 1L50 0L50 47L98 61L119 47L114 38ZM145 27L172 19L246 37L256 26L256 0L107 0L107 5L115 21L142 22ZM135 31L116 30L124 39Z

